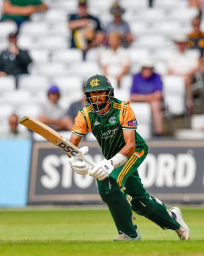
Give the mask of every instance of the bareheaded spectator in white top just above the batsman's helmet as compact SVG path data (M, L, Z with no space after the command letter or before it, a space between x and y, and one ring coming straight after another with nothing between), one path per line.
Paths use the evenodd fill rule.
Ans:
M108 44L109 47L101 53L99 62L101 63L103 75L115 77L119 88L121 78L130 69L130 57L127 49L121 47L121 37L117 32L111 32L109 34Z

